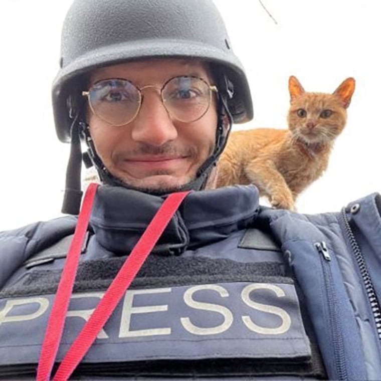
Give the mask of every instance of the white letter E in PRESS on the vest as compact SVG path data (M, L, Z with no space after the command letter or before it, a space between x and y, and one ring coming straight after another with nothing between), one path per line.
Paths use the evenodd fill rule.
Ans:
M136 313L150 313L167 311L168 305L132 307L133 298L135 295L142 294L160 294L163 292L171 292L171 288L153 288L144 290L129 290L126 292L123 302L122 317L120 322L119 337L138 337L138 336L153 336L153 335L170 335L170 328L153 328L139 329L130 331L131 315Z

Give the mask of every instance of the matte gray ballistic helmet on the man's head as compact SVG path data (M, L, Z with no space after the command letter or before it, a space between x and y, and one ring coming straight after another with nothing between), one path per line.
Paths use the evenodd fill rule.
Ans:
M234 122L252 119L243 67L211 0L75 0L64 22L61 69L53 83L58 138L63 142L71 139L71 119L81 91L87 90L86 73L150 57L210 62L214 77L224 73L233 85L228 107Z

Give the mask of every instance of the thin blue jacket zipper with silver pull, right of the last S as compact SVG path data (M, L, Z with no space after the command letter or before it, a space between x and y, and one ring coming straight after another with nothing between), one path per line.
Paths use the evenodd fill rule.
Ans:
M321 267L323 270L325 290L326 290L327 301L328 301L329 322L330 322L331 333L332 333L333 353L335 357L337 376L338 376L338 379L340 380L346 380L348 379L348 376L346 373L344 344L342 341L341 327L340 327L341 317L339 316L338 310L337 310L336 295L332 287L333 279L332 279L331 269L329 266L329 262L331 261L331 256L328 251L327 245L324 241L316 242L315 248L317 249L319 254L321 254L320 262L321 262Z

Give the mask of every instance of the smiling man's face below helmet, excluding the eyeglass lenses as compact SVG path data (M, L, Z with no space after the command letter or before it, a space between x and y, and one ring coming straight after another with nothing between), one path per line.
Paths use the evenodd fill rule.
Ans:
M194 76L213 84L206 65L197 61L147 60L95 70L90 85L104 79L128 79L136 87L161 89L170 78ZM195 179L211 155L217 128L216 97L199 120L179 122L166 111L160 91L142 90L135 119L115 126L89 110L90 134L106 168L124 183L143 190L171 190Z

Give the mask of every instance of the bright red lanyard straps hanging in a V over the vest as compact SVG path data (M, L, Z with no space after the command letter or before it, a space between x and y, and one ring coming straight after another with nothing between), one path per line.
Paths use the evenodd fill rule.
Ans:
M62 271L53 308L49 316L44 342L41 348L37 369L38 381L46 381L50 379L54 360L61 341L65 316L69 307L70 296L73 291L74 279L78 268L81 246L87 231L97 186L98 184L90 184L88 186L83 200L82 209L78 216L77 227ZM102 329L103 325L111 316L118 302L135 278L140 267L188 193L189 192L173 193L164 200L160 209L157 211L130 255L127 257L127 260L110 284L89 320L85 323L81 332L66 352L66 355L53 378L54 381L63 381L70 377L96 339L96 336Z

